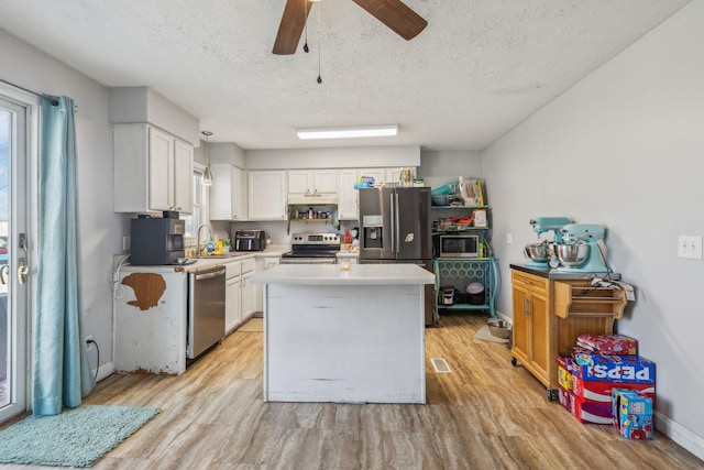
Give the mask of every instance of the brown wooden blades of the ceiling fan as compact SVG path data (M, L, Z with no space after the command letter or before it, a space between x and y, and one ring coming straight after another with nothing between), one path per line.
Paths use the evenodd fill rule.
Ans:
M315 0L314 0L315 1ZM352 0L382 23L406 41L413 40L420 33L428 22L409 9L400 0ZM312 7L311 0L287 0L284 8L282 23L278 26L274 54L288 55L296 52L308 12Z

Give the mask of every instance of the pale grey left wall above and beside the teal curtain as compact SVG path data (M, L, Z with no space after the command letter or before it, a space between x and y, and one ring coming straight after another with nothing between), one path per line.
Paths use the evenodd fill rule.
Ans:
M85 334L112 361L112 253L122 251L122 217L112 211L112 128L108 90L0 30L0 78L40 94L68 96L78 107L78 195ZM41 262L41 260L34 260ZM89 354L96 367L96 357Z

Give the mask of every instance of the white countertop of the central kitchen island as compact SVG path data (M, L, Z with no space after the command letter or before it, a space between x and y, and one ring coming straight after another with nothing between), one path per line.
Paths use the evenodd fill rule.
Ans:
M343 271L340 264L279 264L254 274L255 284L435 284L431 272L415 264L352 264Z

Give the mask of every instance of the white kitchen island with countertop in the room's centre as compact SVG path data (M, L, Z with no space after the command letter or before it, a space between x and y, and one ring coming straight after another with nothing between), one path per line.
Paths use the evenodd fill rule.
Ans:
M425 284L415 264L282 264L264 284L264 401L425 403Z

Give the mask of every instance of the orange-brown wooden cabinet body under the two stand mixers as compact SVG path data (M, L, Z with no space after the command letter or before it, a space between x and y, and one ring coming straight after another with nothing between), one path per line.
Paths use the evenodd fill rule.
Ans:
M558 356L582 334L610 335L626 293L592 287L588 278L549 278L512 269L514 339L512 362L520 363L557 398Z

